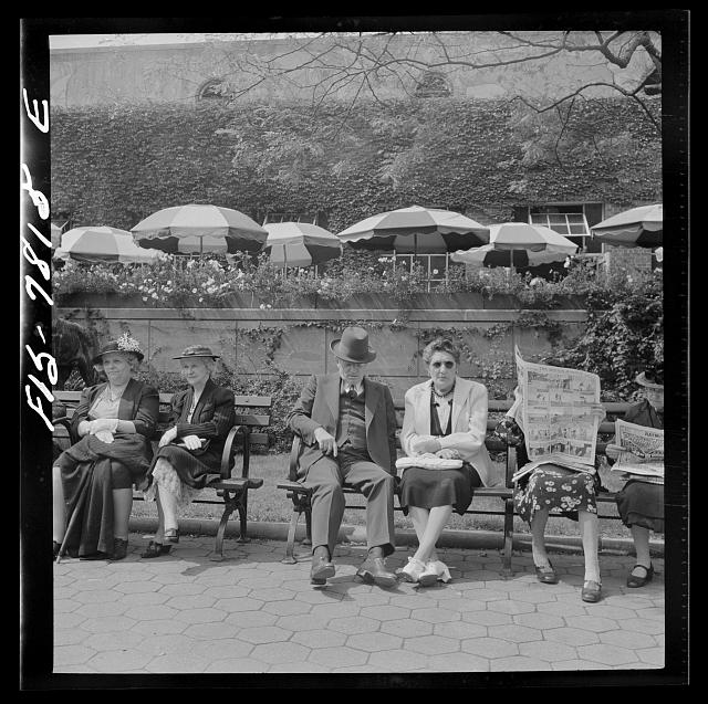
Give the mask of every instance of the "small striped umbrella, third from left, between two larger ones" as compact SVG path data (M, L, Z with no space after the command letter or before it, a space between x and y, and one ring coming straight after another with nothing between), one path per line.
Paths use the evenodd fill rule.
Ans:
M342 242L324 228L310 222L271 222L263 225L270 261L283 269L321 264L342 254Z

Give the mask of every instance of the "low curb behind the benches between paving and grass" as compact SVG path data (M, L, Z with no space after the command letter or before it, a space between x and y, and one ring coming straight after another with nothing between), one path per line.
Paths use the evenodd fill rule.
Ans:
M261 538L267 540L288 539L288 523L272 523L268 521L252 521L248 524L248 535L250 538ZM185 535L216 535L219 522L211 519L185 518L179 523L179 529ZM157 528L157 518L131 517L129 528L134 533L154 533ZM238 521L229 522L226 527L226 538L239 536ZM305 537L304 525L299 525L295 532L295 542ZM366 544L365 526L342 526L339 535L340 543ZM414 530L398 528L396 530L396 545L417 546L418 539ZM549 550L582 553L583 546L580 536L554 535L546 539ZM497 530L444 530L438 542L438 547L466 548L466 549L503 549L503 536ZM664 540L650 540L649 548L656 557L664 557ZM530 550L531 535L528 533L516 533L513 536L514 550ZM632 538L603 538L600 537L600 553L633 555L634 545Z

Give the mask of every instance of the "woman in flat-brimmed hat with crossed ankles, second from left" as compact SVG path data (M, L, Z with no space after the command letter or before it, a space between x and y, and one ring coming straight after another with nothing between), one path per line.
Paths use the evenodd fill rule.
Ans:
M189 385L173 397L171 425L146 476L145 500L157 502L158 526L144 558L159 557L179 543L179 509L204 488L209 475L219 474L221 452L233 425L233 391L211 380L219 358L202 345L187 347L174 359Z

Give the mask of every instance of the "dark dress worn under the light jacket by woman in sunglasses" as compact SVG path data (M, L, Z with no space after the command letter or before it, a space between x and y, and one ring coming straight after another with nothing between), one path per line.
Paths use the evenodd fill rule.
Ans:
M452 401L449 403L451 406ZM430 392L430 434L440 438L451 432L451 408L447 428L442 431L435 399ZM408 506L427 509L436 506L452 506L452 511L461 516L472 503L475 488L481 485L482 481L477 470L469 462L462 462L459 470L425 470L419 466L409 466L404 470L400 479L400 508L407 516Z

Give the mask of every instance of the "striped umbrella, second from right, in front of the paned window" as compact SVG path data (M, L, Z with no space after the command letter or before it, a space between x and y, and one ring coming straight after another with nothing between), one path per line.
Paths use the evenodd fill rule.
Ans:
M489 244L466 252L452 252L450 259L471 266L538 266L562 262L575 254L577 245L543 225L503 222L490 225Z

